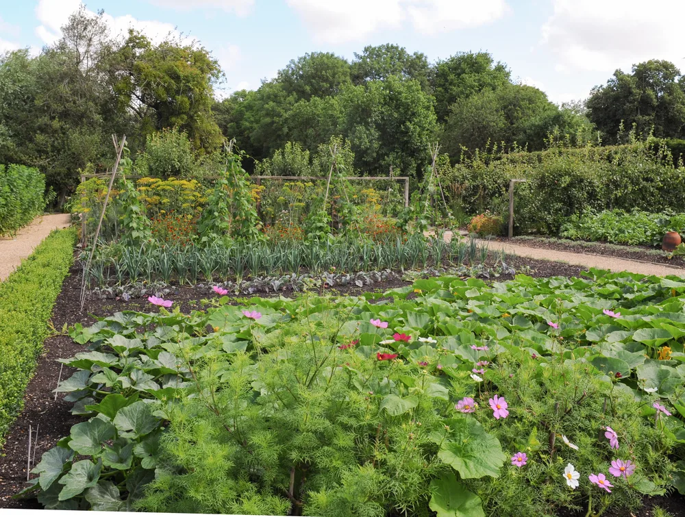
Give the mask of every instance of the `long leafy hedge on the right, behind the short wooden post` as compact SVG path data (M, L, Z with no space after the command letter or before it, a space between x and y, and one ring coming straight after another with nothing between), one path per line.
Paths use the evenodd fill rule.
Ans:
M554 147L506 153L497 160L475 156L445 171L443 185L466 213L508 212L510 179L516 185L518 233L558 234L574 214L601 210L685 212L685 167L668 147L653 142L615 147Z

